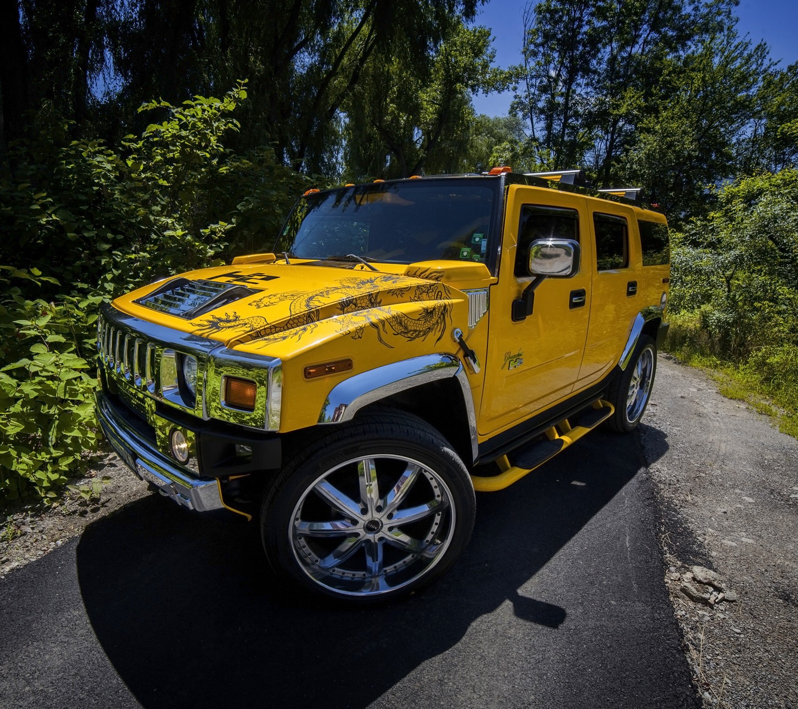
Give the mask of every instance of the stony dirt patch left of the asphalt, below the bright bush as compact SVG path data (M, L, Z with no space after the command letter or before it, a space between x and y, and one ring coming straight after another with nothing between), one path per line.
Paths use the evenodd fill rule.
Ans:
M67 539L82 533L85 526L145 494L146 483L133 475L116 453L109 452L100 463L80 479L77 486L108 478L99 496L85 500L68 491L57 506L17 502L3 510L0 517L0 578L13 569L34 561Z

